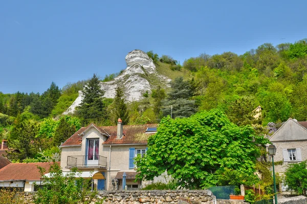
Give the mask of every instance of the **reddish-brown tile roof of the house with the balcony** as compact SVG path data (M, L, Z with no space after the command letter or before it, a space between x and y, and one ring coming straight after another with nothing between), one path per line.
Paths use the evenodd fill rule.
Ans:
M103 126L97 127L94 124L90 124L86 128L80 128L75 134L63 142L61 147L81 145L82 135L90 126L93 125L102 134L108 136L107 140L103 142L103 145L119 145L119 144L147 144L147 139L155 132L145 133L147 128L158 127L157 124L146 125L125 125L123 126L123 137L116 139L117 126Z

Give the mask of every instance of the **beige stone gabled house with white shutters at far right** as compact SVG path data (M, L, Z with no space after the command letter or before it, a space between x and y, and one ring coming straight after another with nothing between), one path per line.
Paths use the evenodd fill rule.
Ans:
M276 147L274 161L283 161L282 165L275 165L275 172L283 175L288 165L297 164L307 159L307 121L297 121L289 118L270 137ZM283 194L289 194L287 187L281 185Z

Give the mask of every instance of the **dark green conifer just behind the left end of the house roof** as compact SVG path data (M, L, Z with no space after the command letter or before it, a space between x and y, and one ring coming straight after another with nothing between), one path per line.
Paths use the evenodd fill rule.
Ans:
M53 136L53 144L55 146L60 146L62 142L67 140L76 132L75 126L70 125L65 118L66 117L61 117L59 125L55 130Z

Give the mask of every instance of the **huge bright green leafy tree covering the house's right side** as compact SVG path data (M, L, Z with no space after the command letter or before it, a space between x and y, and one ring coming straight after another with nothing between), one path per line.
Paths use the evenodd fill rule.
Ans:
M238 127L217 109L189 118L161 120L148 140L148 151L137 157L138 178L152 180L167 173L185 188L215 186L225 168L252 175L260 146L268 144L251 126Z

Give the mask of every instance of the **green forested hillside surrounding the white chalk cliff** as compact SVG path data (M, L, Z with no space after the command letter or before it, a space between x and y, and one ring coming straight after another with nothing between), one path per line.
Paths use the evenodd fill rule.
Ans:
M277 46L267 43L243 55L202 53L182 65L168 55L147 54L157 71L173 80L170 88L157 86L143 93L140 101L127 103L120 89L114 99L104 98L103 91L83 90L87 83L97 90L95 75L62 89L52 83L42 94L0 92L0 139L8 139L9 147L20 151L9 157L58 159L57 147L81 126L115 125L118 117L126 118L125 124L159 123L167 115L189 117L219 108L238 126L254 125L260 131L270 122L307 118L307 39ZM118 74L100 80L109 81ZM79 90L85 98L89 96L88 103L81 104L74 115L61 116ZM252 111L258 106L262 117L255 119Z

